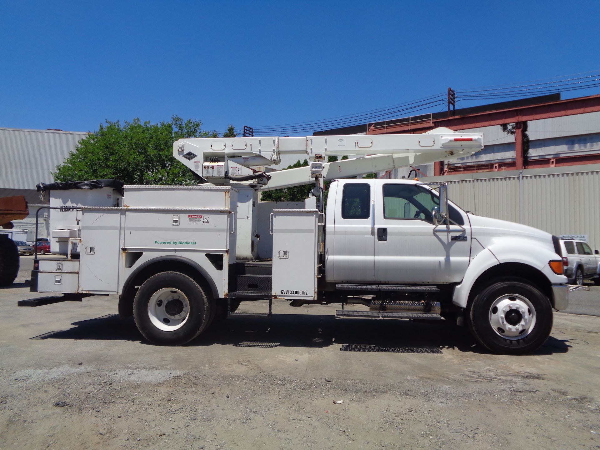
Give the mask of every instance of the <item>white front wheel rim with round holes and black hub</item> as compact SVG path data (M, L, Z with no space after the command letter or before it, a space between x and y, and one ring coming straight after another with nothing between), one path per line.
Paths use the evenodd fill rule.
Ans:
M535 327L536 313L532 303L522 295L505 294L490 307L490 326L509 340L523 339Z

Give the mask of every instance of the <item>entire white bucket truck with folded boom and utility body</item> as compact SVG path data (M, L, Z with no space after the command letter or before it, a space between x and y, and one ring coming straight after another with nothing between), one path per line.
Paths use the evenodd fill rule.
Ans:
M266 299L269 313L272 301L338 303L340 317L454 320L493 352L532 352L550 334L553 308L568 304L556 236L469 214L448 200L445 184L340 179L482 148L481 133L446 128L181 139L174 157L204 184L122 187L100 180L85 194L77 185L39 185L55 208L52 253L64 257L35 259L31 290L64 296L21 305L118 294L119 314L133 315L146 339L177 345L241 301ZM308 157L310 166L252 169L277 164L283 154ZM329 155L358 157L324 163ZM310 183L305 209L273 209L270 235L259 236L257 192ZM258 260L259 239L267 238L272 258Z

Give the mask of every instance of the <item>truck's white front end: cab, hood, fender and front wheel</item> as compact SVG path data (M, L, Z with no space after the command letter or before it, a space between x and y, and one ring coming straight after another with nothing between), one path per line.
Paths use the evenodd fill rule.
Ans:
M443 202L436 187L415 180L332 182L326 286L381 299L371 310L404 305L420 313L433 302L496 352L539 345L551 308L568 304L559 239L470 214L449 200L440 220Z

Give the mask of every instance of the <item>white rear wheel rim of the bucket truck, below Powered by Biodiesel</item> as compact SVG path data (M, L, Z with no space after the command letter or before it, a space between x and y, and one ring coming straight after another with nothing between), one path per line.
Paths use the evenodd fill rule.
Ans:
M187 322L190 301L181 290L164 287L157 290L148 302L148 317L162 331L175 331Z

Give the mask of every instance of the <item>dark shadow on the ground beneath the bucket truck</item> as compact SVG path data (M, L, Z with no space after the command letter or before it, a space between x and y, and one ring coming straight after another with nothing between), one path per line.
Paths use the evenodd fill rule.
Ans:
M119 340L146 343L133 318L117 314L74 322L74 328L51 331L31 339ZM391 353L442 353L443 349L489 353L476 346L469 332L443 321L346 319L331 315L274 314L266 317L230 317L214 323L190 347L329 347L342 351ZM535 355L566 353L569 340L548 338Z

